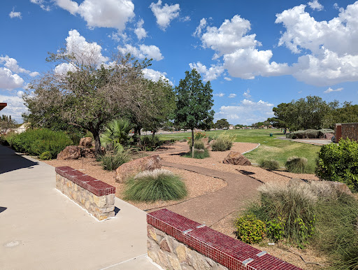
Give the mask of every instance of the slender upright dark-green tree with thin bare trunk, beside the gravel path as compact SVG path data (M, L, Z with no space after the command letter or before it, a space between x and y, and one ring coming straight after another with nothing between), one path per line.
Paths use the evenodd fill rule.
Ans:
M182 127L192 130L192 155L194 156L194 129L201 128L213 120L213 90L210 81L205 85L196 71L185 71L176 87L175 120Z

